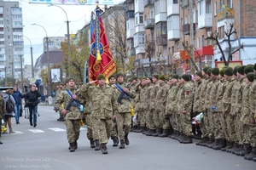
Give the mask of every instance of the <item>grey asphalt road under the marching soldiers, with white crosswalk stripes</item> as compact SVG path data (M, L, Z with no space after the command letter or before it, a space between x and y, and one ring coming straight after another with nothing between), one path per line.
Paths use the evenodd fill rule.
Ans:
M79 148L71 153L67 149L64 122L50 106L39 106L38 127L20 117L13 128L15 134L2 134L0 144L0 169L54 169L54 170L126 170L126 169L178 169L178 170L255 170L255 161L246 161L220 150L194 144L179 144L177 140L147 137L142 133L129 135L130 145L124 150L108 143L108 155L90 149L86 126L81 128ZM195 141L195 140L194 140Z

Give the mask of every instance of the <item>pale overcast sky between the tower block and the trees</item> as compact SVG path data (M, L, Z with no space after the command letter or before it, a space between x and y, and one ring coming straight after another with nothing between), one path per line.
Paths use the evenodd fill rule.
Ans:
M78 30L90 21L90 12L96 7L95 5L62 5L67 13L67 18L63 10L58 7L48 7L46 4L28 3L29 0L21 0L20 8L23 14L23 34L32 42L33 62L43 53L43 38L46 37L64 37L67 34L68 18L70 34ZM103 8L103 7L101 7ZM32 26L31 23L44 26ZM25 65L31 65L30 42L24 37L24 58Z

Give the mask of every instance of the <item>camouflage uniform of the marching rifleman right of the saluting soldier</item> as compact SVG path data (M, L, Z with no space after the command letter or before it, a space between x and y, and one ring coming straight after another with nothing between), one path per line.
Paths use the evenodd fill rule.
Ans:
M125 88L124 83L119 83L119 86L121 88ZM121 92L119 91L119 88L116 87L116 84L113 84L112 86L115 94L115 99L118 99ZM134 94L131 90L129 92L129 97L131 99L135 99L136 94ZM118 105L118 112L116 114L116 122L118 127L118 133L119 133L119 139L122 141L125 139L125 136L127 136L130 132L131 128L131 102L128 99L122 99L122 105ZM125 126L125 132L123 130L123 127Z

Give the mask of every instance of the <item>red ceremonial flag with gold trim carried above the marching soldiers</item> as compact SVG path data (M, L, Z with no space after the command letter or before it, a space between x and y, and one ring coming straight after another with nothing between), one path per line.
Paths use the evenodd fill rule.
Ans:
M89 59L89 80L90 81L96 80L99 74L103 74L108 80L108 77L110 77L113 74L113 72L116 71L113 57L109 49L108 37L106 35L101 16L99 16L98 19L99 19L99 26L98 26L99 41L96 40L97 26L93 26L94 29L91 35L90 59ZM91 24L92 23L93 22L91 22ZM99 48L99 50L96 50L96 46ZM97 51L99 51L99 54L101 55L102 60L96 60Z

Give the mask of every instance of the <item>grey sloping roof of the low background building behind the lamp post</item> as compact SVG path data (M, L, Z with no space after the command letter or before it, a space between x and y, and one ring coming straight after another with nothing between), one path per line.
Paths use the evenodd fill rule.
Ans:
M49 51L49 64L55 65L60 63L64 58L64 54L62 53L61 49ZM47 65L47 52L45 51L44 54L41 54L35 64L35 68L38 68L41 65Z

